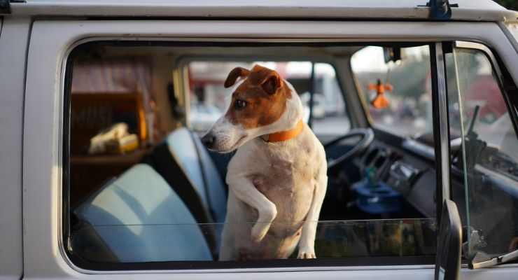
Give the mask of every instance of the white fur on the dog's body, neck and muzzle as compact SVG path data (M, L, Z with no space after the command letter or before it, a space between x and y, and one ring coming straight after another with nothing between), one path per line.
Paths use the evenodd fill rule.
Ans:
M276 122L244 130L222 116L209 130L218 139L216 151L238 148L226 177L230 191L220 260L287 258L297 242L297 258L316 258L316 225L327 187L323 146L307 125L287 141L259 138L289 130L302 118L298 94L284 83L292 98ZM278 248L272 253L269 246Z

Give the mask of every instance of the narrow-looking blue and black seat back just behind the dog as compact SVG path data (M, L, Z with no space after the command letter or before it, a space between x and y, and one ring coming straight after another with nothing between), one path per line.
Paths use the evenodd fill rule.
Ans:
M227 191L200 138L186 127L179 127L141 162L151 165L164 177L198 223L212 223L206 228L206 236L217 255L227 212ZM214 235L212 239L210 232Z

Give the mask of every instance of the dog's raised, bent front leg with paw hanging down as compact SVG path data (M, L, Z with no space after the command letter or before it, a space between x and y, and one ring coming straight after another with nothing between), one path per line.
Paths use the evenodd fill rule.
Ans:
M272 223L277 216L275 204L260 193L247 176L228 174L227 183L229 190L234 193L237 199L257 209L259 217L255 225L253 225L251 235L253 241L261 241L265 238L270 223Z

